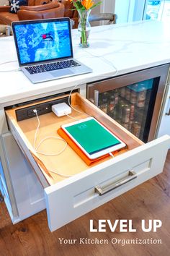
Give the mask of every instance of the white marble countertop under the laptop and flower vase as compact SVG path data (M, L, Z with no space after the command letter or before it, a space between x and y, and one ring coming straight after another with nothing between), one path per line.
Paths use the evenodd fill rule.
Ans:
M86 49L79 48L78 31L72 30L74 58L93 72L35 85L20 71L0 72L0 104L170 63L169 27L157 21L91 27ZM0 38L0 63L12 60L17 60L13 37ZM18 67L15 61L0 70Z

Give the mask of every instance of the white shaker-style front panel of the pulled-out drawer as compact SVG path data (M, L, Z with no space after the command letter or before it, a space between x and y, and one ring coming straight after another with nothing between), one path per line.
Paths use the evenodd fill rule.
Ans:
M46 188L50 230L60 228L161 173L169 142L166 135L84 171L81 179L77 175ZM101 188L103 195L99 195Z

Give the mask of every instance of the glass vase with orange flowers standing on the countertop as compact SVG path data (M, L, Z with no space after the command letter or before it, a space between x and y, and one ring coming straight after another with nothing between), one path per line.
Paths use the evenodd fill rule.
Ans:
M89 30L90 24L88 21L89 13L91 9L97 7L102 1L97 2L96 4L92 0L70 0L73 3L73 7L77 9L79 12L80 22L78 26L78 30L80 32L81 42L79 46L82 48L89 47L88 38L89 38Z

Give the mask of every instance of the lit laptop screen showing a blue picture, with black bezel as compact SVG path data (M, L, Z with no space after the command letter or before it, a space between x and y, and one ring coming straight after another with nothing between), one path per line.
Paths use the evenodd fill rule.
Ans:
M73 57L68 18L13 22L19 65Z

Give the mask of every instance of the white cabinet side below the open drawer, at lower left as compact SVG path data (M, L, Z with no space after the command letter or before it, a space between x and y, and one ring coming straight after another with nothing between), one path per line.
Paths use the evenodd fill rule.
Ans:
M17 204L17 214L14 216L11 212L10 215L12 221L17 223L45 209L44 192L35 172L24 158L11 132L2 135L2 142L13 188L12 192ZM2 176L2 181L5 181L4 176ZM9 197L5 182L3 184L6 197Z

